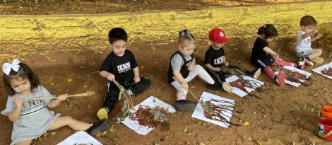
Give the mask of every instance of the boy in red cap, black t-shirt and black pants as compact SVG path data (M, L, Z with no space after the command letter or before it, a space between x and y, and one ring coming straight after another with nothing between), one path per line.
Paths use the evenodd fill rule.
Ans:
M225 75L232 74L235 69L242 71L247 76L253 76L255 79L259 77L261 69L245 71L238 66L232 66L226 62L223 45L228 41L228 38L224 30L214 28L210 31L208 38L211 41L211 46L206 51L204 65L208 69L208 73L217 79L218 85L225 82Z

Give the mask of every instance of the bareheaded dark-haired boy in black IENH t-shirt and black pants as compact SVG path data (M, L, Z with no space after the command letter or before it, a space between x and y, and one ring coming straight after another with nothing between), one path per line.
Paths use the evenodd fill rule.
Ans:
M113 81L117 81L127 88L129 95L142 93L150 87L151 81L141 78L138 72L138 65L134 54L126 50L127 34L123 28L112 28L108 33L109 45L112 52L106 57L100 68L100 76L107 78L107 93L102 108L98 110L97 117L100 120L108 119L108 112L111 112L118 100L119 88Z

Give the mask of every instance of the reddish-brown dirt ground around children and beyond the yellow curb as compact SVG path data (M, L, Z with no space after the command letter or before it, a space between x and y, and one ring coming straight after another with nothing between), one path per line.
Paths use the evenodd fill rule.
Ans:
M1 14L103 13L114 11L140 11L140 6L142 10L159 10L159 8L167 9L169 6L167 4L157 4L157 2L160 1L148 1L148 4L145 4L144 1L137 0L109 2L107 3L107 6L110 7L100 8L98 6L104 6L103 4L105 3L97 1L76 1L83 5L77 5L74 8L87 8L85 9L86 11L83 9L66 11L66 8L68 7L57 7L55 1L53 3L54 9L50 7L50 5L52 5L51 3L43 6L42 1L40 1L38 6L32 6L31 2L33 1L25 1L27 4L24 6L19 6L17 1L7 2L7 4L1 6ZM224 1L219 2L221 2L220 5L225 5L222 4ZM243 1L228 2L237 5L241 4ZM265 2L266 1L263 1L263 3ZM184 3L187 5L179 6ZM177 1L170 3L170 5L172 9L192 8L194 10L196 8L211 6L212 3L213 1ZM85 6L85 4L87 6ZM247 4L247 1L245 1L245 4ZM89 9L88 6L93 8ZM183 8L183 6L187 7ZM25 8L32 8L32 10ZM59 8L64 8L64 11L60 11L61 9ZM332 24L328 25L332 28ZM247 40L233 39L231 42L227 43L224 47L227 61L230 62L230 64L241 66L245 69L254 69L254 66L249 63L249 57L255 39L256 37L251 37ZM324 51L322 56L325 59L324 64L331 62L331 40L322 37L318 42L324 42L314 43L315 47L321 47ZM196 46L196 59L198 60L198 64L202 64L203 56L208 48L208 41L205 38L198 37ZM151 49L152 47L153 49ZM293 38L276 40L271 44L271 47L275 50L281 48L281 58L290 62L295 62L295 42ZM54 50L58 50L57 47L55 47ZM174 88L167 83L167 69L170 55L177 51L176 42L135 41L129 45L129 50L134 52L136 56L141 76L145 76L153 82L152 87L149 88L148 91L134 97L134 104L141 103L141 101L145 100L150 95L153 95L160 100L173 105L176 101L176 92ZM59 107L52 110L59 112L62 115L71 115L77 120L96 122L97 117L95 114L102 105L107 83L106 79L102 79L102 77L97 74L97 70L100 68L102 60L107 54L109 54L109 52L110 50L105 49L104 53L97 57L92 57L94 54L91 52L80 52L81 56L95 59L87 59L87 61L80 63L67 63L66 65L62 65L61 62L59 62L59 64L49 66L48 62L38 62L36 59L42 57L38 54L28 55L28 57L24 57L24 59L30 64L35 73L40 76L41 84L54 95L95 91L96 95L93 97L79 99L71 98L68 102L64 101ZM67 56L70 56L70 53L75 52L69 52ZM63 53L54 53L53 55L53 57L62 58L64 61L71 62L71 60L66 58L66 55ZM33 66L31 64L38 65ZM310 71L312 68L313 67L307 67L306 71ZM69 82L68 79L72 79L73 81ZM170 129L162 128L161 125L159 125L146 136L141 136L128 127L125 127L123 124L114 124L113 132L109 132L102 137L97 137L97 140L102 142L102 144L154 145L200 143L257 144L255 141L260 141L261 144L328 144L327 141L316 137L313 131L316 126L316 120L319 118L319 109L321 106L332 104L330 99L332 93L331 80L313 73L309 85L302 85L299 88L288 85L281 88L277 86L274 81L268 79L266 74L261 74L259 80L266 83L266 85L263 86L263 91L256 92L261 99L251 96L239 98L232 93L211 91L205 88L206 83L200 79L194 79L190 84L190 86L194 86L191 87L191 89L198 94L206 91L236 100L235 110L242 113L234 114L231 121L239 124L247 121L250 123L248 126L242 125L240 127L230 127L226 129L215 124L191 118L191 112L175 112L170 115ZM4 84L0 83L0 110L3 110L6 107L7 97L4 92ZM194 100L190 95L188 98L189 100ZM122 105L123 102L117 103L116 107L110 114L111 118L117 115ZM0 144L9 144L11 142L13 122L8 120L8 117L0 115L0 124ZM189 130L190 134L184 133L185 127ZM56 134L46 134L42 139L35 141L35 144L58 144L60 141L66 139L66 137L73 134L73 130L69 129L69 127L62 127L53 132ZM249 138L252 141L249 141Z

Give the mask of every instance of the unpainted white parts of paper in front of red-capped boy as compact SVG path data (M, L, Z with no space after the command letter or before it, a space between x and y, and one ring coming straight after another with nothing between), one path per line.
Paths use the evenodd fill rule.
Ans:
M257 79L254 79L254 78L251 78L250 76L243 76L243 78L245 79L245 80L252 80L252 81L256 81L256 83L254 84L255 86L258 86L258 87L260 87L260 86L262 86L263 84L264 84L264 82L263 81L259 81L259 80L257 80ZM226 82L232 82L232 81L235 81L235 80L237 80L237 79L239 79L237 76L230 76L229 78L227 78L226 79ZM253 84L253 83L251 83L251 84ZM251 92L251 91L255 91L255 89L253 89L253 88L247 88L247 87L244 87L247 91L249 91L249 93ZM244 91L242 91L242 90L240 90L239 88L235 88L235 87L233 87L233 91L232 91L232 93L235 93L236 95L239 95L240 97L244 97L245 95L248 95L248 93L247 92L244 92Z

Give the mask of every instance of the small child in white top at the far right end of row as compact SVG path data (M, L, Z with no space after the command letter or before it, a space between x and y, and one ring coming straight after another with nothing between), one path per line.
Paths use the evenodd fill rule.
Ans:
M321 49L312 49L312 42L322 36L318 34L317 21L312 16L303 16L300 26L301 30L296 37L295 52L297 57L300 57L300 61L304 60L310 66L323 63L324 59L319 57L323 51Z

